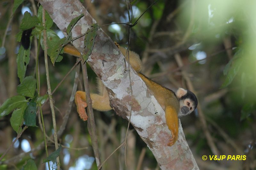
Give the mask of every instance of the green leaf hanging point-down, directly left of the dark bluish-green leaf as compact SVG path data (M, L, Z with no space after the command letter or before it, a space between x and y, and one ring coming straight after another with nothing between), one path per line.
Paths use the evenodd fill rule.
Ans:
M24 114L26 107L27 107L27 104L24 104L24 106L22 108L16 109L12 112L12 117L10 119L10 122L11 122L11 126L12 126L13 130L15 130L15 132L17 132L17 134L19 133L19 130L24 122L23 114Z

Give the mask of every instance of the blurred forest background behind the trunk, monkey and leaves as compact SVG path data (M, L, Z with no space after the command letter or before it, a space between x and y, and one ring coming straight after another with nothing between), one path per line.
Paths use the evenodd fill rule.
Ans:
M33 0L24 1L13 14L13 1L0 1L0 105L16 95L16 56L20 43L19 32L24 9L35 11ZM153 3L152 0L132 1L134 22ZM128 23L124 0L84 0L85 8L99 25ZM34 6L33 6L34 5ZM34 8L33 8L34 7ZM193 91L199 101L198 111L182 117L181 123L188 145L200 169L255 169L256 168L256 1L220 0L159 0L132 27L131 50L142 60L142 73L161 85L176 90L183 87ZM26 10L25 10L26 11ZM59 33L56 26L52 29ZM102 29L122 46L127 45L128 27L111 25ZM5 34L6 33L6 34ZM5 43L4 42L4 38ZM35 45L32 42L26 76L35 76ZM65 56L55 66L50 64L51 86L63 79L76 58ZM49 60L50 63L50 60ZM41 95L47 91L43 51L39 55ZM97 92L96 76L89 72L90 90ZM57 128L62 124L74 83L72 71L53 95L56 106ZM82 89L82 84L78 89ZM49 104L43 107L46 133L52 134ZM105 160L124 140L128 122L114 111L95 111L101 161ZM11 114L0 119L0 154L15 139L17 133L10 124ZM154 156L130 127L124 165L124 148L117 150L103 166L104 169L159 169ZM210 137L207 135L210 135ZM20 169L29 158L36 158L38 169L45 169L44 149L20 155L36 148L43 141L40 128L29 127L18 143L10 149L0 169ZM96 169L87 122L79 119L76 107L60 136L62 169ZM49 143L49 152L54 143ZM76 148L76 149L75 149ZM77 149L78 148L78 149ZM80 148L80 149L79 149ZM81 149L82 148L82 149ZM206 161L203 155L246 155L246 160ZM18 159L11 159L13 156ZM141 158L141 159L139 159ZM9 160L9 161L8 161ZM46 168L47 169L47 168Z

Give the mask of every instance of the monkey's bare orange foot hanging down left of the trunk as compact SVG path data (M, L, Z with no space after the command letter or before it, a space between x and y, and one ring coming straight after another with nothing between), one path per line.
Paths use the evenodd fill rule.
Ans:
M76 101L77 112L80 118L86 121L88 118L85 111L85 108L87 107L87 103L82 99L82 97L78 93L76 93L75 98L76 98L75 101Z

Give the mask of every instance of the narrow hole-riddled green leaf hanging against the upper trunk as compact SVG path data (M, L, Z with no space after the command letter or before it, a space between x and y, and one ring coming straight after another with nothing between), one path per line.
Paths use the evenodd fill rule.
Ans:
M93 24L92 28L87 31L84 36L84 51L83 51L83 60L84 62L89 58L92 53L92 49L95 42L95 37L97 35L97 28L99 27L97 24Z

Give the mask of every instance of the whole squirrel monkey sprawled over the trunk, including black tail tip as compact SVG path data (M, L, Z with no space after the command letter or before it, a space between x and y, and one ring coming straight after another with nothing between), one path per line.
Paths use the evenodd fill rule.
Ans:
M29 48L28 31L24 31L21 38L21 44L25 49ZM125 56L126 49L116 44L122 54ZM70 55L80 57L81 53L72 45L66 45L64 47L64 52ZM165 119L168 128L171 131L172 138L167 143L168 146L172 146L178 139L179 133L179 120L178 117L190 114L197 107L197 99L194 93L189 90L179 88L177 92L173 92L170 89L167 89L160 84L148 79L145 75L140 73L142 68L140 57L137 53L130 51L130 65L138 73L140 78L146 83L148 89L156 97L156 100L161 105L165 111ZM125 57L128 59L128 57ZM98 89L100 94L91 93L92 99L92 108L99 111L109 111L112 108L110 107L109 96L106 87L102 82L98 81ZM86 103L86 94L84 91L77 91L75 95L75 103L77 106L77 112L82 120L87 120L87 114L85 108L87 107Z

